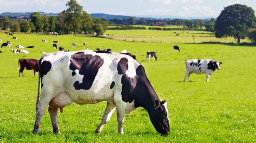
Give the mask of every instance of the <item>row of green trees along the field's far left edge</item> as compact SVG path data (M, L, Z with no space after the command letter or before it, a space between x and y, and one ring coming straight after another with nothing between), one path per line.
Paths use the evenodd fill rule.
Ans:
M83 11L76 0L69 0L68 7L57 17L41 15L38 12L31 13L26 19L9 19L3 17L0 19L0 29L11 32L58 32L61 34L76 33L103 33L107 30L108 22L99 18L92 18Z

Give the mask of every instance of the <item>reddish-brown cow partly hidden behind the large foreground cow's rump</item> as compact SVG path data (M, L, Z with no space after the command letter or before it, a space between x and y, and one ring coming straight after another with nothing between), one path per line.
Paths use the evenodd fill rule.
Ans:
M19 77L22 74L23 76L23 70L34 70L34 77L35 73L38 72L38 60L36 59L19 59Z

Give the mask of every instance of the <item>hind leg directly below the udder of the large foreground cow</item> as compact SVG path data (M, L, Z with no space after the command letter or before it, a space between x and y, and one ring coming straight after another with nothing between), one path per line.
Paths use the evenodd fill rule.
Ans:
M57 123L58 108L56 109L56 108L53 108L53 107L49 106L48 107L48 112L49 112L50 117L51 117L52 129L53 129L54 133L61 134L61 132L59 131L58 123Z

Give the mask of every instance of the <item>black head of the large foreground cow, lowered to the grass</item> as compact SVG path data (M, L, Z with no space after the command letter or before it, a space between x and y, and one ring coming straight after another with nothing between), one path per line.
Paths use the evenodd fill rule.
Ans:
M150 121L158 133L163 135L170 132L166 101L159 102L159 100L155 100L154 109L148 112Z

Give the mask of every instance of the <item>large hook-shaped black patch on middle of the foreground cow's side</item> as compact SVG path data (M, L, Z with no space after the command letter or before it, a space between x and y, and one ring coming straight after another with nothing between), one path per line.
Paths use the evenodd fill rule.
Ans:
M92 54L78 52L71 55L70 62L69 69L73 71L79 70L79 74L83 75L83 82L74 82L74 88L76 90L89 90L104 60L97 55L93 56Z

